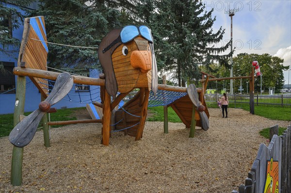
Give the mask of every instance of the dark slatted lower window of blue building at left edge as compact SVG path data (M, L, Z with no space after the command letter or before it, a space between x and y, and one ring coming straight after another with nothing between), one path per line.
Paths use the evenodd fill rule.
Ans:
M0 61L0 93L3 92L5 92L6 94L16 93L15 75L13 74L13 68L14 62Z

